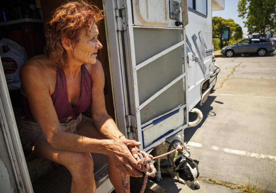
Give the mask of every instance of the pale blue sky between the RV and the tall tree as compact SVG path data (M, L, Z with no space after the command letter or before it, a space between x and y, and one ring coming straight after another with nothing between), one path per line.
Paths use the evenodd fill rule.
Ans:
M243 36L247 37L247 28L244 27L243 21L246 20L246 18L242 19L241 17L238 17L239 12L238 10L238 1L239 0L225 0L225 7L223 11L213 11L212 17L218 16L222 17L224 19L233 19L235 23L239 24L243 31Z

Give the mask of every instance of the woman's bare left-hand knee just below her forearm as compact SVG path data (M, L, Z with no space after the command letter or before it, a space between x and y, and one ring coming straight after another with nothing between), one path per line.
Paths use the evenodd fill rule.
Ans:
M74 153L68 161L67 168L72 176L93 176L94 163L90 153Z

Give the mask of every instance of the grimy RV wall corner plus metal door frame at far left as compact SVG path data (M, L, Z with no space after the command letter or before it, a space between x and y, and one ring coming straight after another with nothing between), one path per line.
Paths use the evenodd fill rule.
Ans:
M33 193L0 59L0 192Z

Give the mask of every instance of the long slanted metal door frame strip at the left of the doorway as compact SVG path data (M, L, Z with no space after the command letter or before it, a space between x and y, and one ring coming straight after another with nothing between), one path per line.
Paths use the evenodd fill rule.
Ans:
M33 193L25 156L16 126L12 103L0 59L0 124L5 139L14 178L20 193Z

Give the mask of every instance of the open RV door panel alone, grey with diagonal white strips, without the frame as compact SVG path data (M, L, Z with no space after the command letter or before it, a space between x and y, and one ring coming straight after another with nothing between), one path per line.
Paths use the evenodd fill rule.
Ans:
M126 2L132 129L147 151L187 126L185 31L175 24L181 22L179 1Z

